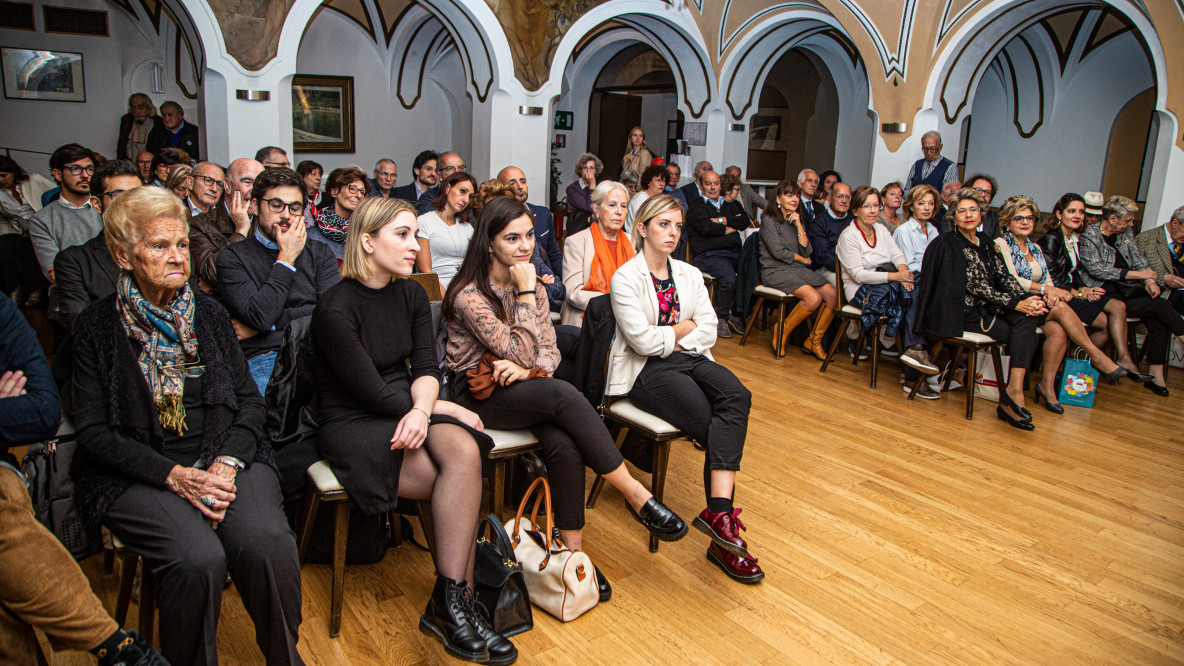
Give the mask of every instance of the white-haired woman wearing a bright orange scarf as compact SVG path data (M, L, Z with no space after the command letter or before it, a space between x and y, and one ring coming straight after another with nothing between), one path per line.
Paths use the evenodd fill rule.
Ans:
M580 326L588 301L609 293L612 274L633 257L633 246L620 229L629 217L629 190L605 180L592 192L594 224L564 242L564 301L561 324Z

